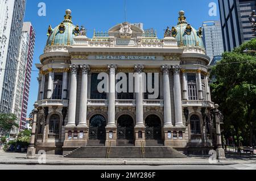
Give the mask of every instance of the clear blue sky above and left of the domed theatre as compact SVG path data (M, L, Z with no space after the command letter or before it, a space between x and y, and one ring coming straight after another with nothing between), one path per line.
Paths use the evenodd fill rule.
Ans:
M39 56L43 54L47 40L49 24L56 27L65 15L66 9L72 10L73 23L84 25L88 37L96 31L108 31L115 24L125 21L125 0L27 0L24 21L31 22L36 31L34 65L32 70L37 70L35 64L39 63ZM46 16L38 15L38 4L46 3ZM143 23L144 29L154 28L158 37L163 38L164 28L175 26L178 12L185 11L187 21L196 29L201 27L206 20L218 20L217 0L126 0L127 22ZM209 3L217 4L217 16L209 15ZM38 95L38 72L33 71L31 77L28 114L34 108Z

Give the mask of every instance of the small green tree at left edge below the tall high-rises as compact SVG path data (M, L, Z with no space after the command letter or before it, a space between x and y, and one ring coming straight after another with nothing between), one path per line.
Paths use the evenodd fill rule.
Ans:
M0 114L0 136L8 134L13 128L19 128L14 114Z

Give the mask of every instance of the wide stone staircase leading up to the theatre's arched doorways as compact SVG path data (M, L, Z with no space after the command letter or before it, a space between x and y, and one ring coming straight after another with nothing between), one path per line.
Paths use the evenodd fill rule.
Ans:
M65 155L68 158L185 158L180 151L170 147L147 146L144 148L135 146L100 147L86 146L78 148Z

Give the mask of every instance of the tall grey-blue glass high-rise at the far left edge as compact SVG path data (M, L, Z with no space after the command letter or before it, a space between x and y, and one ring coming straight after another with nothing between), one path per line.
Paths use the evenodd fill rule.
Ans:
M1 19L3 18L1 22L5 22L6 25L2 23L0 24L0 29L3 29L5 34L8 35L5 39L9 40L8 44L5 43L7 48L5 48L6 51L4 52L3 59L1 60L0 113L11 113L13 108L16 68L18 66L19 45L22 34L25 5L26 0L1 1L1 9L5 9L5 12L9 12L10 14L7 16L1 16ZM11 23L9 23L10 21ZM2 26L4 27L2 28Z

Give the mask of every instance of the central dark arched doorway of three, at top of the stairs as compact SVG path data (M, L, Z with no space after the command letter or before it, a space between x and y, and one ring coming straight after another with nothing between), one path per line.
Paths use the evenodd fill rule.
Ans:
M133 140L134 123L133 118L129 115L122 115L117 120L117 139Z

